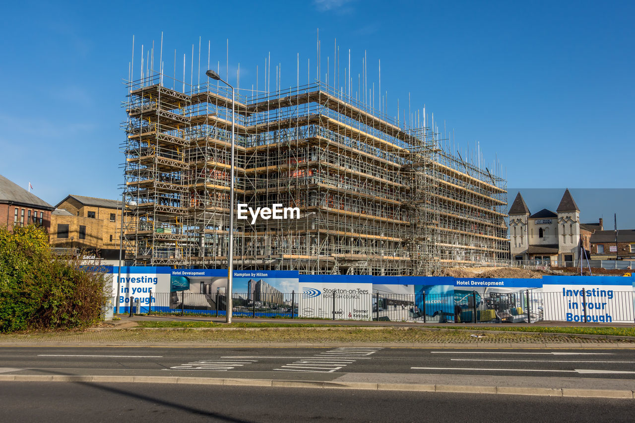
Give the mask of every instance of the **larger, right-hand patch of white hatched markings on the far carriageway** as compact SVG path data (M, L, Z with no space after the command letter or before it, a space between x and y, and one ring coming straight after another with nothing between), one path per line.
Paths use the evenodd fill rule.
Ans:
M333 373L345 366L355 363L358 359L369 359L371 354L380 351L382 348L366 347L340 347L329 351L319 352L313 357L301 357L293 363L274 368L281 372L311 372L311 373Z

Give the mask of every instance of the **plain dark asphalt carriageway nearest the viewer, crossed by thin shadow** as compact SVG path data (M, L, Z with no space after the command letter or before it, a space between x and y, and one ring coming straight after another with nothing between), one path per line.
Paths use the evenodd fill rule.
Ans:
M275 387L0 383L7 422L632 422L634 401Z

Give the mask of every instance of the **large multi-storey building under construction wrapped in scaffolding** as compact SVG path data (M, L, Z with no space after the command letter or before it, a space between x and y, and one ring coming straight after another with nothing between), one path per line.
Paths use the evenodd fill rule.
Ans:
M231 91L128 82L126 262L227 267ZM298 207L234 220L235 269L429 275L508 257L503 178L323 83L235 102L236 203ZM131 203L134 204L134 203Z

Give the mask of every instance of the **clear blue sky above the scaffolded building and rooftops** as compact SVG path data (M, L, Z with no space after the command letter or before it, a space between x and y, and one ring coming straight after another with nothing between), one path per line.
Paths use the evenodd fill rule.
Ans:
M407 111L410 95L412 111L425 104L453 133L453 151L465 156L478 142L486 164L497 158L510 187L633 187L633 2L21 1L3 9L0 173L30 181L52 204L67 194L118 195L132 39L138 77L141 45L154 41L158 54L162 31L166 73L177 50L189 81L194 44L196 82L200 37L201 74L209 40L224 75L229 39L230 79L240 64L241 87L251 87L258 66L262 88L269 53L283 87L296 83L298 53L300 83L307 59L316 77L319 29L322 74L327 57L333 74L337 39L340 85L351 49L352 85L365 53L368 88L374 82L378 93L381 60L391 116L398 98Z

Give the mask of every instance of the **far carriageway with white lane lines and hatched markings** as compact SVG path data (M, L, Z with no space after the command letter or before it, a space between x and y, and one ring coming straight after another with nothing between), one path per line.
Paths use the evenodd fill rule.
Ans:
M632 349L388 347L1 347L0 374L159 375L335 380L463 375L619 380L635 387ZM410 378L410 379L408 379Z

